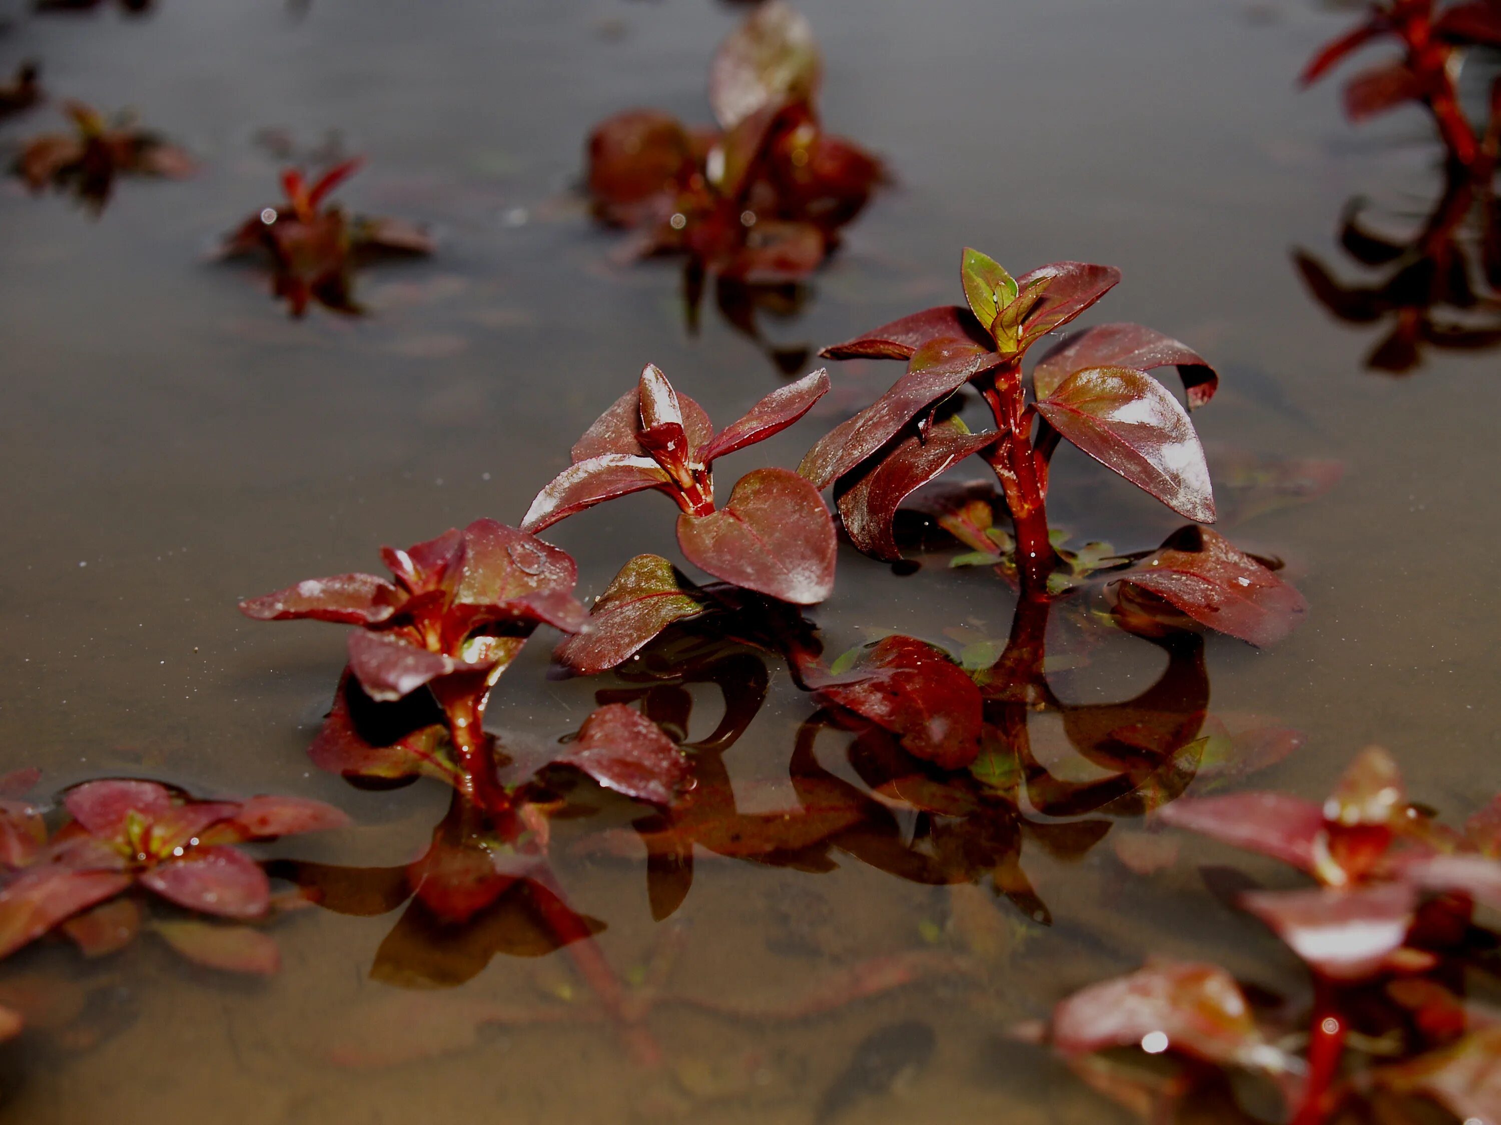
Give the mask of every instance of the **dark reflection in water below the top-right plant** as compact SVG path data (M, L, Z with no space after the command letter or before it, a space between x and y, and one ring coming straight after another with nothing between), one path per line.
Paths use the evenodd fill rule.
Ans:
M1484 176L1450 174L1444 195L1411 238L1367 228L1363 201L1340 219L1339 243L1367 270L1369 284L1345 284L1307 250L1294 261L1309 291L1348 324L1390 324L1366 366L1402 375L1424 346L1478 351L1501 344L1501 200Z

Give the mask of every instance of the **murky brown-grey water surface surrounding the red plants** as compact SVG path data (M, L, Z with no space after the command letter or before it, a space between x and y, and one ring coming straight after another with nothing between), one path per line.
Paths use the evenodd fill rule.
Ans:
M1097 320L1148 322L1220 366L1223 388L1196 422L1222 464L1237 452L1345 464L1327 496L1234 526L1241 546L1286 560L1312 614L1270 651L1208 639L1213 711L1306 734L1268 784L1319 795L1379 741L1415 800L1471 812L1498 777L1501 372L1477 351L1433 352L1405 380L1369 374L1378 332L1333 322L1294 272L1295 246L1337 262L1331 234L1349 196L1418 218L1439 188L1417 112L1355 134L1331 88L1294 88L1345 16L1300 0L803 9L827 58L827 123L886 154L899 184L814 279L802 315L770 321L769 334L826 344L952 300L965 243L1013 268L1118 266L1126 280ZM146 774L350 812L359 828L279 849L305 860L383 867L422 849L441 788L362 792L306 762L342 664L339 630L255 626L234 602L374 568L381 543L482 514L519 519L647 360L719 418L778 384L714 315L689 336L672 267L611 264L614 238L567 195L597 118L645 104L707 120L707 58L737 18L708 0L314 0L302 20L275 0L162 0L146 20L33 18L0 34L0 72L35 56L54 92L135 106L204 162L186 183L123 184L98 222L56 196L0 192L5 768L38 764L51 788ZM308 144L341 132L369 158L345 192L353 204L437 226L431 261L362 278L369 320L291 322L258 274L201 264L219 231L270 198L275 164L252 142L263 126ZM833 376L820 416L763 447L775 464L796 465L896 369L851 363ZM1175 525L1082 458L1057 465L1058 525L1123 549ZM632 554L662 549L671 518L657 498L633 498L549 538L576 555L588 596ZM971 639L1006 634L1012 597L985 573L937 560L893 578L848 549L839 567L836 596L812 615L830 651L878 630L941 644L961 626ZM558 736L596 690L621 686L548 680L546 652L539 639L507 672L494 728ZM1166 664L1162 650L1115 634L1054 687L1073 702L1120 700ZM692 696L701 738L719 692ZM811 714L772 668L764 706L725 754L741 810L797 800L788 756ZM1091 776L1055 716L1037 716L1033 736L1058 774ZM817 753L856 780L847 742L824 732ZM542 952L521 914L497 922L501 952L462 987L404 990L410 958L386 942L399 910L311 910L279 927L285 969L269 982L185 970L150 942L90 966L74 1026L101 1041L63 1032L6 1047L0 1120L1111 1120L1006 1028L1154 951L1298 987L1288 956L1210 904L1196 874L1130 876L1109 842L1073 860L1027 843L1049 927L989 892L977 903L968 886L910 882L839 848L821 872L701 852L686 903L659 924L638 860L569 844L636 814L606 802L563 825L557 850L575 904L606 922L600 945L621 975L680 946L671 992L710 1005L653 1011L668 1053L659 1071L641 1071L597 1022L488 1023L465 1042L486 1005L566 1016L560 996L573 996L582 1008L566 956L507 956ZM1130 818L1112 828L1132 830ZM941 957L965 942L985 952L980 978L929 974L805 1018L711 1010L793 1004L868 958ZM60 946L17 964L80 980ZM931 1059L917 1034L895 1083L821 1102L868 1035L913 1020L935 1032ZM449 1048L363 1070L330 1062L404 1035Z

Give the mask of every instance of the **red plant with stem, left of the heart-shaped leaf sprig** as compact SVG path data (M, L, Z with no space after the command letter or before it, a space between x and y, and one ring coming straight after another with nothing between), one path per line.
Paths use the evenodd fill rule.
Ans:
M240 612L258 621L314 618L357 626L350 633L348 676L360 694L393 702L420 692L441 708L440 730L432 720L423 723L420 734L401 742L404 752L480 807L507 814L510 798L483 730L485 705L539 624L567 632L587 624L572 596L578 568L558 548L492 519L407 550L383 548L381 560L390 580L375 574L308 579L242 602ZM339 699L347 693L348 686L341 686ZM336 700L326 740L338 742L348 724L348 710L341 714ZM438 759L440 732L450 740L452 760Z

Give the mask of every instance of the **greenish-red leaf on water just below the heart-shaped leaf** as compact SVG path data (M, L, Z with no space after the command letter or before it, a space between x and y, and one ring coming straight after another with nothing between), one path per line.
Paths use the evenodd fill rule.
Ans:
M593 675L627 660L674 621L702 614L696 586L660 555L636 555L611 579L590 610L593 630L567 638L554 656Z

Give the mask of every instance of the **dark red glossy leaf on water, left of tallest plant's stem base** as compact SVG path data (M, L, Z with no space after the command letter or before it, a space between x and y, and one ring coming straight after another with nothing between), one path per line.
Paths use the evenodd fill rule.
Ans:
M818 698L886 728L910 754L944 770L980 752L980 688L943 650L889 636L860 654L850 676L821 686Z

